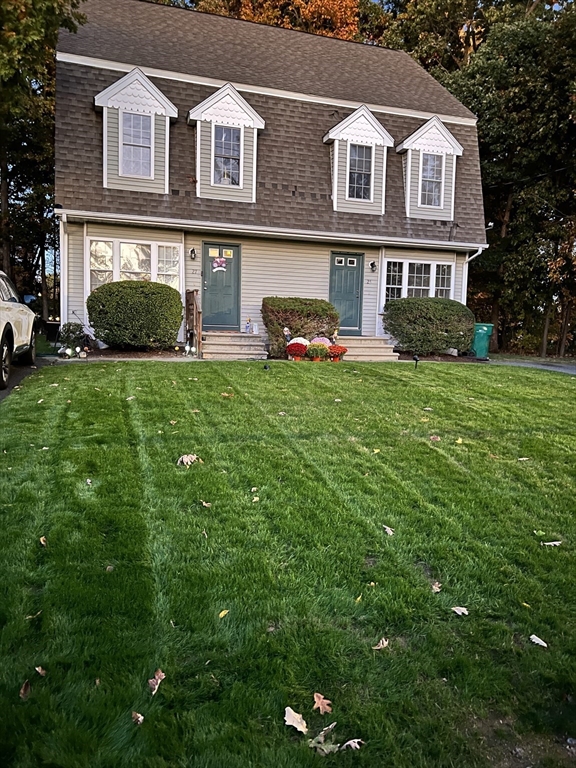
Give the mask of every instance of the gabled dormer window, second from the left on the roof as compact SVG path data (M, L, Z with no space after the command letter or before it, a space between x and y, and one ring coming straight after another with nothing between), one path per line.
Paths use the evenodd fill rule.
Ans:
M264 120L228 83L188 113L196 125L196 195L256 202L258 131Z

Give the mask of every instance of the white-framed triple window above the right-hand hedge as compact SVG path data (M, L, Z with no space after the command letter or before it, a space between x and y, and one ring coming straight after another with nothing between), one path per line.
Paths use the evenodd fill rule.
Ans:
M453 265L419 261L388 261L385 301L427 296L449 299L453 288Z

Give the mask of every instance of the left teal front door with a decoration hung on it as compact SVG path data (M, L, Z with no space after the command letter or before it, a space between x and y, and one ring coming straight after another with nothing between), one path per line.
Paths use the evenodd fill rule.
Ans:
M240 330L240 248L204 243L202 247L202 327Z

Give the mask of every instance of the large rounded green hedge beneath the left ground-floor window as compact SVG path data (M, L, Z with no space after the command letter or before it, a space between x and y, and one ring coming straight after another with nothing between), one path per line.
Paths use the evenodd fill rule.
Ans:
M96 338L116 349L172 346L182 323L180 294L163 283L106 283L88 296L86 306Z

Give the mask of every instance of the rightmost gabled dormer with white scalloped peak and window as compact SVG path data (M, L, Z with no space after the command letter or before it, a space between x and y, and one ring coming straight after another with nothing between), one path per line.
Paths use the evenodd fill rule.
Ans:
M430 120L400 142L406 216L454 221L456 159L460 143L439 117Z

